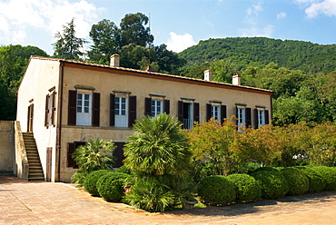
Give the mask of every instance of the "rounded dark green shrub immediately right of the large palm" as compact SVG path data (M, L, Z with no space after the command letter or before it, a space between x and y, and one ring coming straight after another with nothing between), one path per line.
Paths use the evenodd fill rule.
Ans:
M198 195L205 205L222 206L235 201L236 191L232 181L215 175L204 178L197 187Z

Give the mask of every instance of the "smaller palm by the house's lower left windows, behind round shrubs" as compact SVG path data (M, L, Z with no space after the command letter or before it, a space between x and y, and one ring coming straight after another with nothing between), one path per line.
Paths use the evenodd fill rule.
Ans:
M79 146L73 155L78 165L78 171L74 172L73 182L83 183L87 174L98 170L112 170L114 165L113 141L104 141L92 138L84 145Z

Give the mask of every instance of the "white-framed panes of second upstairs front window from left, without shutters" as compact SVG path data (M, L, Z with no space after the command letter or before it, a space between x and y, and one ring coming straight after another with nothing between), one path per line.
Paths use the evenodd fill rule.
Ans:
M128 127L128 103L129 103L128 95L116 94L114 96L115 127ZM119 106L118 108L117 105Z

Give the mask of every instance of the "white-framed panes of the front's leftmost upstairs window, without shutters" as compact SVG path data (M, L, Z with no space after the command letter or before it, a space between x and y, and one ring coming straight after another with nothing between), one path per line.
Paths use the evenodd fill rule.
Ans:
M82 94L81 100L78 98ZM88 96L88 99L85 99ZM79 101L81 103L79 104ZM88 105L85 105L88 103ZM85 108L87 111L85 111ZM80 109L80 112L78 111ZM91 126L92 122L92 92L77 91L76 94L76 125Z

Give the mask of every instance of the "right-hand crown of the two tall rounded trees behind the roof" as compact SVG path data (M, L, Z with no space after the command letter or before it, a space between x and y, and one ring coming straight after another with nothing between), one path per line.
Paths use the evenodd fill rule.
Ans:
M125 15L120 23L122 46L128 44L147 46L153 43L154 37L148 24L148 17L142 13Z

